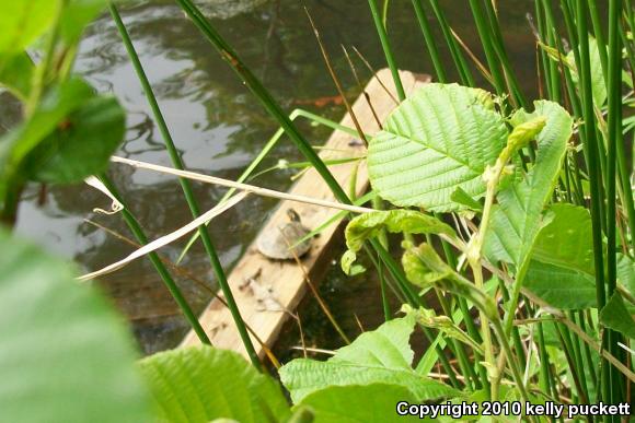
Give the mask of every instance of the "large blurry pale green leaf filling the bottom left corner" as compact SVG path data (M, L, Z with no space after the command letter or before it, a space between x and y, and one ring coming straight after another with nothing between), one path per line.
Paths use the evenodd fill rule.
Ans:
M148 422L131 338L66 263L0 232L0 413L8 422Z

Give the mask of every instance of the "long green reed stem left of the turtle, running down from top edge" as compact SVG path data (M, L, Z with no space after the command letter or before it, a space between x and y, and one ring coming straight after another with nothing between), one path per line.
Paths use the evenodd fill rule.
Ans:
M157 126L159 127L159 130L160 130L161 136L163 138L165 149L168 150L168 153L170 154L170 160L172 161L172 165L175 168L183 171L185 168L185 166L183 164L181 155L178 154L178 151L176 150L176 146L174 145L174 140L172 139L172 136L170 134L170 129L168 128L168 124L165 122L165 119L163 118L163 114L161 113L161 108L159 107L159 103L157 102L157 97L154 96L150 81L148 80L148 77L146 75L146 72L143 70L143 66L141 64L141 61L139 60L139 56L137 55L137 51L135 50L135 46L132 45L132 40L130 39L128 31L126 30L126 26L124 25L124 22L122 21L122 16L119 15L117 8L113 3L109 4L109 10L111 10L111 14L113 15L113 19L115 21L115 24L117 25L117 30L119 32L119 35L122 36L122 39L124 40L124 45L126 46L126 50L128 51L128 57L130 58L130 61L132 62L132 66L135 67L135 71L137 72L137 77L139 78L139 82L141 83L141 86L143 87L143 92L146 93L146 98L148 99L148 104L150 105L150 108L152 109L152 114L154 115L154 120L157 121ZM187 179L184 179L184 178L178 178L178 181L181 184L183 195L185 196L185 200L187 201L187 205L189 207L192 215L195 219L198 218L200 215L200 208L198 207L198 202L196 201L196 198L194 197L194 192L192 190L192 186L190 186L189 181ZM229 282L227 280L227 275L224 273L224 270L222 269L220 258L218 257L218 254L216 251L213 243L211 242L211 237L209 236L209 233L207 232L207 226L205 226L205 225L199 226L198 234L200 236L200 239L203 240L203 245L205 247L205 250L207 251L207 255L209 257L209 261L210 261L211 267L213 268L213 271L216 273L218 284L220 285L220 289L224 295L224 299L227 301L228 308L230 309L230 313L232 315L232 318L234 320L234 324L236 326L236 329L239 331L239 334L241 337L243 345L244 345L254 367L259 369L262 367L261 361L259 361L258 355L254 349L252 340L249 336L244 320L242 319L238 304L235 303L235 298L233 297L233 294L231 292L231 287L230 287Z

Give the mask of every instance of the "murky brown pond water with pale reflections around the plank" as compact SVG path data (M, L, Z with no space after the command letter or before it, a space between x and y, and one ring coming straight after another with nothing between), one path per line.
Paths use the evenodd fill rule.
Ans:
M340 105L321 101L336 95L336 91L310 31L304 4L321 30L349 98L356 97L359 90L342 55L340 44L355 45L378 69L385 66L365 0L216 0L198 3L203 4L207 15L213 16L217 28L264 80L286 110L301 106L335 120L339 120L344 113ZM475 28L466 2L446 0L442 3L457 31L470 46L475 47ZM520 80L531 94L535 90L534 43L526 13L532 10L533 2L506 0L499 3L510 56ZM235 179L277 129L276 124L174 2L148 1L126 8L122 14L186 165L195 171ZM400 67L431 72L409 1L391 2L389 25ZM437 35L441 39L440 34ZM448 57L447 51L441 51ZM478 49L475 52L481 54ZM141 87L108 15L95 22L88 32L77 68L100 91L113 92L128 110L127 142L119 154L170 165ZM358 69L363 67L359 64ZM362 73L367 80L369 74ZM19 113L5 95L2 98L1 124L10 127ZM301 122L300 128L315 144L328 136L328 130L307 122ZM279 158L298 161L300 156L284 139L262 168L274 165ZM124 166L112 166L111 174L150 238L190 220L174 178ZM290 171L269 173L254 184L286 189L291 175ZM209 185L194 185L194 188L204 209L213 207L224 192ZM106 266L134 248L84 221L99 222L131 237L120 216L92 212L95 207L106 207L107 200L91 188L81 185L49 187L42 204L39 197L43 197L39 187L28 187L20 208L18 232L50 251L74 260L83 270ZM241 256L274 205L269 199L252 196L215 221L211 236L226 269L230 269ZM183 243L172 245L163 248L161 254L175 260L182 246ZM184 267L213 286L213 277L200 246L187 256ZM201 310L209 302L205 289L187 280L178 280L178 283L196 310ZM149 261L138 260L102 278L100 284L130 320L143 352L174 346L187 330ZM322 291L331 298L336 317L344 321L347 330L355 332L358 328L353 319L354 313L365 327L373 327L381 320L374 286L377 284L366 278L346 281L334 267ZM359 297L360 293L368 301L351 299ZM304 321L304 325L309 328L309 338L315 340L315 346L323 346L318 341L320 339L336 343L323 317L314 315L314 324Z

